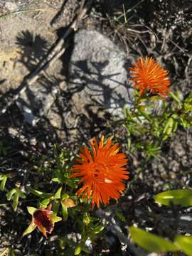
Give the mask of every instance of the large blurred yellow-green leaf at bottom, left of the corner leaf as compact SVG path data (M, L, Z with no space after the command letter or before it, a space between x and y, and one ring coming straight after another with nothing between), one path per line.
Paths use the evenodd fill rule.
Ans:
M159 236L146 232L141 228L131 227L129 230L132 240L149 252L161 253L178 250L176 245L169 240L160 238Z

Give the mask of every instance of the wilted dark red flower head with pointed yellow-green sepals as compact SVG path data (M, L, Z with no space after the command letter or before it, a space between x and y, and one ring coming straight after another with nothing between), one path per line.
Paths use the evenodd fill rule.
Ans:
M53 232L55 222L62 220L62 218L53 215L53 211L50 208L51 205L47 209L36 209L28 206L28 213L32 215L32 221L23 235L31 233L37 227L47 238L47 233Z

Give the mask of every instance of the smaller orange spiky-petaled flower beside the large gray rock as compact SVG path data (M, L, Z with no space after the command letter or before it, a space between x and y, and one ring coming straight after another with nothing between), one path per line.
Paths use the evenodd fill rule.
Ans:
M131 80L135 82L134 88L139 89L139 95L149 90L151 93L166 97L166 92L170 91L171 82L167 76L168 72L153 58L146 57L145 60L139 58L134 67L129 70Z

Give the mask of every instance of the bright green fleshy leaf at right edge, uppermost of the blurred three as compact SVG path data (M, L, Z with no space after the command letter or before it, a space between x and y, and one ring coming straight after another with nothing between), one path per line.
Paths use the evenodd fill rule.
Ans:
M192 206L192 190L175 189L162 192L155 196L155 201L165 206L169 206L171 202L175 205Z

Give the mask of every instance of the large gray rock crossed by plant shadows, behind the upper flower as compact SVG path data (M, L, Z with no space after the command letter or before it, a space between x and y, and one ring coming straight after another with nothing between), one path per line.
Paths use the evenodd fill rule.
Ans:
M97 31L75 34L68 88L82 104L96 102L110 114L132 106L132 84L127 79L126 54ZM78 95L78 97L76 97Z

